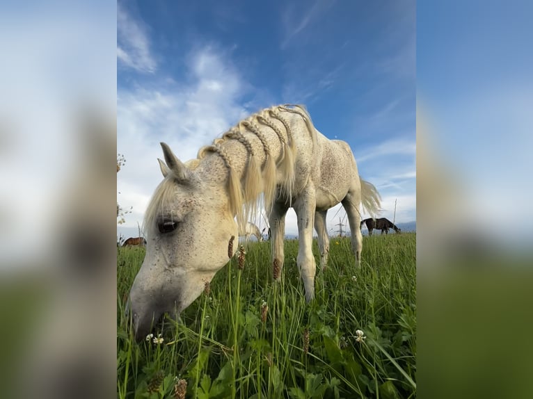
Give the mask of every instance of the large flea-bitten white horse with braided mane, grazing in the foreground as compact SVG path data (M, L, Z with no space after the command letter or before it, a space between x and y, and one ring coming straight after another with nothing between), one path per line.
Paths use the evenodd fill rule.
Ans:
M354 232L351 244L359 266L360 205L374 214L381 198L359 177L347 142L323 136L303 106L273 106L250 115L186 164L168 145L161 142L161 147L164 179L145 212L148 245L127 304L136 339L143 339L164 312L177 318L198 298L237 251L234 238L257 215L260 204L269 215L275 280L283 268L285 214L291 206L296 211L296 263L307 301L315 295L312 229L319 233L324 267L329 250L326 212L339 202Z

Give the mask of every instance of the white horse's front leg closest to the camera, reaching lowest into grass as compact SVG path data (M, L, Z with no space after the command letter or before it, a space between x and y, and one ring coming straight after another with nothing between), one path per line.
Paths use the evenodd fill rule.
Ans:
M317 266L312 255L312 229L315 219L315 188L308 185L294 202L294 211L298 217L298 268L305 288L305 300L315 298L315 273Z

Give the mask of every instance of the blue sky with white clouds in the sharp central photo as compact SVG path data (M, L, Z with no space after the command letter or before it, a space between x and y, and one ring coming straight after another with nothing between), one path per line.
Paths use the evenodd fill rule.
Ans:
M117 18L118 202L133 207L119 232L142 224L160 141L194 158L281 103L305 104L321 133L349 143L383 216L397 199L396 221L415 220L415 1L119 1Z

